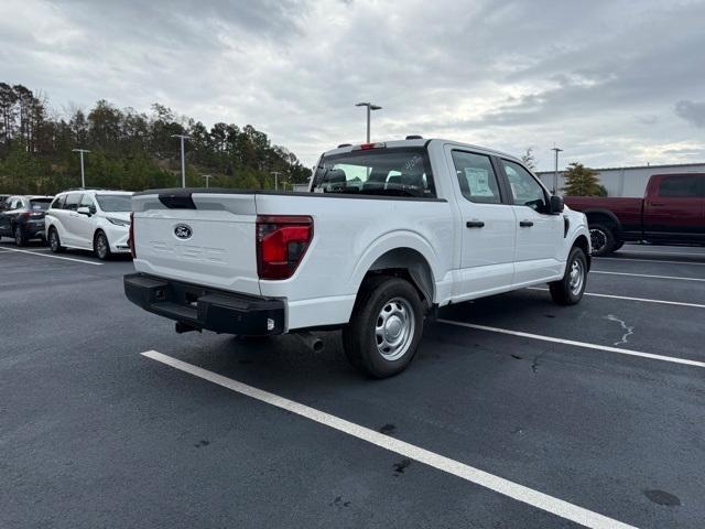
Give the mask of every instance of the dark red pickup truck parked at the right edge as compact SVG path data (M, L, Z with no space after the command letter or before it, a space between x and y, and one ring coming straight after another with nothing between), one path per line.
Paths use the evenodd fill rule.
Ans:
M705 245L705 173L654 174L643 198L567 196L587 216L593 255L625 242Z

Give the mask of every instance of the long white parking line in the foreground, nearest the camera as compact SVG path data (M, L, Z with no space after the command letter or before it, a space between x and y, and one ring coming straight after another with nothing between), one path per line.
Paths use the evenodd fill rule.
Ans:
M325 411L311 408L306 404L295 402L293 400L285 399L269 391L263 391L252 386L232 380L231 378L224 377L207 369L187 364L171 356L163 355L156 350L148 350L142 353L143 356L156 361L161 361L167 366L180 369L184 373L193 375L209 382L216 384L231 391L245 395L252 399L265 402L282 410L296 413L297 415L310 419L314 422L332 428L339 432L346 433L354 438L360 439L376 446L379 446L390 452L403 455L411 460L415 460L420 463L426 464L440 471L446 472L454 476L460 477L467 482L474 483L496 493L502 494L510 498L529 504L538 509L545 510L555 516L560 516L566 520L581 523L585 527L595 529L634 529L633 526L628 526L612 518L608 518L604 515L594 512L592 510L578 507L563 499L549 496L547 494L540 493L533 488L519 485L518 483L510 482L503 477L489 474L479 468L466 465L458 461L452 460L444 455L431 452L411 443L400 441L394 438L390 438L383 433L376 432L369 428L361 427L339 417L332 415Z

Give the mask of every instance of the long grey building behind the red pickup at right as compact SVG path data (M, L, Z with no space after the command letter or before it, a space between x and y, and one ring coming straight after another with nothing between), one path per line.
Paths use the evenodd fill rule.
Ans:
M647 190L647 183L652 174L705 173L705 162L590 169L598 173L599 183L607 188L609 196L641 197ZM564 173L565 171L558 171L558 194L562 194L561 190L565 185ZM549 188L553 187L554 171L539 171L536 174Z

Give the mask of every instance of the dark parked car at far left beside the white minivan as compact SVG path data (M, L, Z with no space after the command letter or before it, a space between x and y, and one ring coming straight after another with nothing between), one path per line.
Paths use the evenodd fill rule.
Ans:
M52 196L13 195L0 204L0 239L11 237L18 246L44 239L44 213Z

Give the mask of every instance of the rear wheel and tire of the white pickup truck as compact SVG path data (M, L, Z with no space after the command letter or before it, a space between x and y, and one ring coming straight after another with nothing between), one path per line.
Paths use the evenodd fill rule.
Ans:
M343 330L343 347L357 369L387 378L411 363L422 333L423 305L416 289L403 279L377 276L362 284L350 324Z

